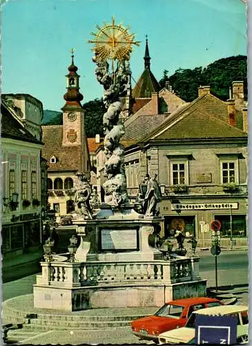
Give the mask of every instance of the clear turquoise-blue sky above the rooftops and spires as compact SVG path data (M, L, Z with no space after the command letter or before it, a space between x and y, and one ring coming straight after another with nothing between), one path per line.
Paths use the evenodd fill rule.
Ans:
M146 34L157 80L164 69L171 75L246 55L242 0L9 0L1 16L2 93L30 93L56 111L64 105L72 47L84 102L101 97L87 40L112 16L142 42L130 59L135 80L144 70Z

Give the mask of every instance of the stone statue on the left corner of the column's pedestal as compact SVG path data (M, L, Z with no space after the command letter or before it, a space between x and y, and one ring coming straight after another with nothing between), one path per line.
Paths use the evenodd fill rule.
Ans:
M84 219L93 219L90 207L91 186L84 172L77 172L77 184L75 186L75 212Z

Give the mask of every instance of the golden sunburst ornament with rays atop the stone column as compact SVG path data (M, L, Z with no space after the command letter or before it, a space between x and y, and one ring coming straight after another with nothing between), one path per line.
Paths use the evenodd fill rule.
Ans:
M132 51L132 45L139 46L140 42L135 41L135 34L130 34L128 28L122 24L115 24L115 18L112 17L111 24L104 24L103 28L96 25L97 33L91 33L95 36L94 40L88 40L88 43L95 44L92 51L95 51L99 60L128 60Z

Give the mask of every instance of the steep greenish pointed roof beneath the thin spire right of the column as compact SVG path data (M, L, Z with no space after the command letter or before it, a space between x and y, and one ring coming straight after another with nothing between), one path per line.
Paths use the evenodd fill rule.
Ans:
M159 82L155 79L153 73L149 69L145 69L141 77L135 84L132 91L133 98L148 98L151 93L161 89Z

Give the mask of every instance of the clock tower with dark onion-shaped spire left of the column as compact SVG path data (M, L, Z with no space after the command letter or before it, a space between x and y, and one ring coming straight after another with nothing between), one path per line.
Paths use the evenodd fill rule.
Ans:
M68 67L68 74L66 75L66 93L64 95L66 103L61 108L63 111L62 147L81 147L81 167L79 169L88 173L90 156L85 131L84 108L80 103L83 100L83 95L79 92L77 70L72 50L72 63Z

